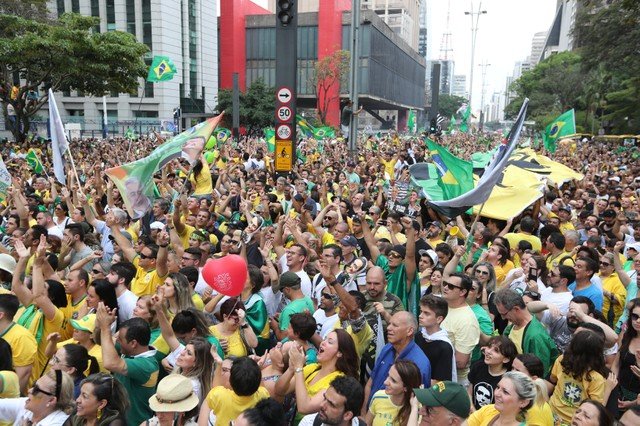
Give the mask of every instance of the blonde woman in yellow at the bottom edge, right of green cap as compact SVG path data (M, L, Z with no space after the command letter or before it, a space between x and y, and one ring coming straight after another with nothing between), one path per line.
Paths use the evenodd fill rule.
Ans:
M544 382L533 381L526 374L509 371L494 390L495 403L474 411L467 419L469 426L524 425L529 409L544 401Z

